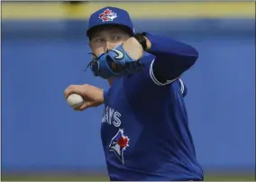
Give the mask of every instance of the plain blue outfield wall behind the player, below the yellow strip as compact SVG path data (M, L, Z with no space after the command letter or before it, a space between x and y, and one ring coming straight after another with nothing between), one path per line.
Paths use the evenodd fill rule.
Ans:
M172 29L171 23L162 30L152 27L153 23L144 26L199 50L197 65L183 79L188 87L191 131L203 167L253 168L255 30L250 24L240 31L210 31L213 24L206 27L207 21L201 21L205 30L197 26L198 32L182 25ZM99 135L102 106L77 113L63 96L70 84L107 86L89 70L83 71L90 60L80 29L85 25L72 21L3 23L4 171L105 168Z

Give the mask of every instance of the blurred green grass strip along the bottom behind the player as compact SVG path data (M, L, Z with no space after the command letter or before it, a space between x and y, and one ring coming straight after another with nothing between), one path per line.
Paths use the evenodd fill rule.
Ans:
M208 174L206 181L255 181L254 174ZM109 181L104 175L3 175L2 181Z

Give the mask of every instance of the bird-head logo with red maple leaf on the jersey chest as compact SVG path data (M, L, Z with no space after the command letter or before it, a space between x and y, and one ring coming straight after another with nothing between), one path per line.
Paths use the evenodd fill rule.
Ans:
M129 146L129 141L130 139L127 136L123 135L123 130L119 129L109 145L109 150L114 151L117 158L120 159L123 164L123 151L126 149L126 147Z

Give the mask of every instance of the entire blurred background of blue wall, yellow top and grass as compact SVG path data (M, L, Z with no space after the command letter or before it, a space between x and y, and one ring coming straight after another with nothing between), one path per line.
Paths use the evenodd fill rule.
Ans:
M197 48L182 78L206 180L254 180L253 2L2 2L2 180L108 180L102 106L74 112L63 96L70 84L107 87L84 71L88 16L107 5L126 9L137 32Z

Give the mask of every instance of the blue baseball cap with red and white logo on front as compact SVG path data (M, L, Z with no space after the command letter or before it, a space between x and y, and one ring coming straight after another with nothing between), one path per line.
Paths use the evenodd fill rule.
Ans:
M130 15L128 14L128 12L121 8L107 6L96 11L94 14L91 14L89 19L89 26L87 29L87 36L88 32L92 28L103 24L123 25L128 27L131 32L134 33L133 23Z

